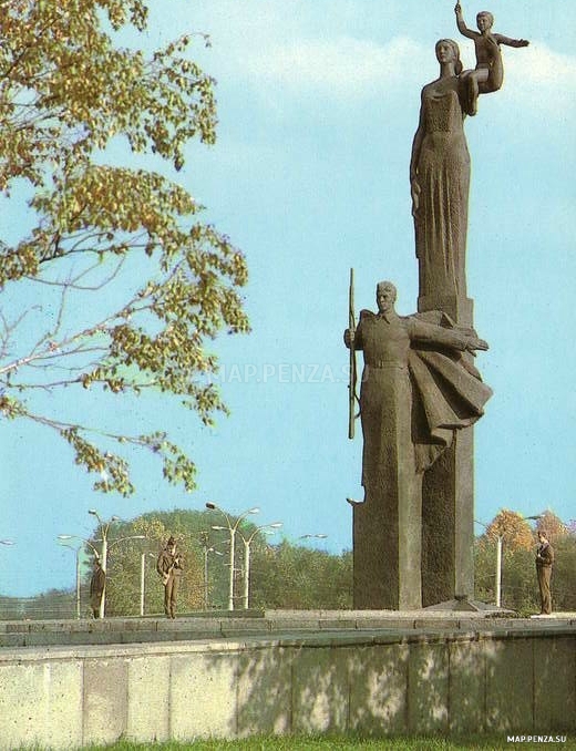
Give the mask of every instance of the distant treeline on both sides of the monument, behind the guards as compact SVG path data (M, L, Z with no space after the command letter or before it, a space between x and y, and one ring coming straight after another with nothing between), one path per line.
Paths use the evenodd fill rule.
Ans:
M234 524L236 519L230 517ZM547 512L543 524L556 553L553 569L554 609L576 611L576 531ZM144 614L162 614L163 587L155 558L172 534L185 560L178 610L226 609L229 594L229 531L214 512L153 512L113 527L112 539L145 535L111 546L107 559L106 616L137 616L144 594ZM542 526L542 525L541 525ZM245 546L250 543L249 607L259 609L352 608L352 553L331 554L299 541L270 542L244 519L238 525L234 562L235 609L244 605ZM513 512L503 511L474 544L475 597L495 601L496 539L503 539L502 604L521 615L539 609L534 552L535 529ZM97 529L91 542L97 547ZM86 552L90 548L86 548ZM144 578L142 574L144 572ZM82 575L80 616L89 617L90 570ZM76 589L50 590L30 598L0 596L0 618L64 619L76 617Z

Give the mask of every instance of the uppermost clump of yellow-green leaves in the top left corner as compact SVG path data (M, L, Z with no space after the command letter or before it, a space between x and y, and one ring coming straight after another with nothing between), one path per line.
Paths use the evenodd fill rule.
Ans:
M116 135L176 167L191 137L214 142L213 81L182 56L191 37L146 58L115 45L102 11L114 31L146 28L141 0L2 3L2 189L16 177L43 184L49 163L61 176Z

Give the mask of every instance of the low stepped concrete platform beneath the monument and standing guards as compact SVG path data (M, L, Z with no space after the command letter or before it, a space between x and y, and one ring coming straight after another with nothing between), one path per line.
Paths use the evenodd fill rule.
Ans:
M370 632L419 631L518 634L523 630L576 630L576 614L556 613L533 618L510 611L444 610L267 610L220 611L164 617L105 618L103 620L0 621L0 648L126 645L237 638L341 636Z

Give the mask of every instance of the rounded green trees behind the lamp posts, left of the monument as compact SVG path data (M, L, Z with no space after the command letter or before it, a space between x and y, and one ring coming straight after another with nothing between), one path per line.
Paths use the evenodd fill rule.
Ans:
M234 517L232 518L234 522ZM229 533L214 531L214 512L174 510L152 512L132 522L114 522L109 539L106 585L107 615L137 615L141 565L144 554L145 614L163 613L163 588L155 559L173 535L184 557L178 610L204 609L207 584L208 608L226 609L229 586ZM244 546L239 535L256 533L250 545L250 608L344 609L352 606L352 555L340 556L284 541L270 545L251 523L239 526L235 558L235 607L243 607ZM144 535L145 539L124 539ZM94 546L99 531L94 531ZM117 544L114 541L120 541ZM217 551L222 555L216 555ZM151 555L152 554L152 555ZM207 569L205 569L205 555ZM205 582L205 570L208 580Z

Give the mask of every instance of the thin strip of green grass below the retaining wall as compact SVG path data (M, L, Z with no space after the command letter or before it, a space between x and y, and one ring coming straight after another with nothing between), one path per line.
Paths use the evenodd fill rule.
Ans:
M527 733L526 733L527 734ZM566 733L558 733L566 735ZM257 737L240 740L198 740L189 742L168 741L164 743L135 743L119 741L113 745L91 745L84 751L459 751L460 749L524 750L543 748L543 743L507 742L506 733L498 735L469 735L463 738L388 738L368 739L357 735L284 735ZM567 738L566 743L554 743L552 748L576 749L576 739Z

